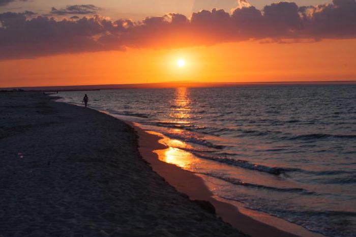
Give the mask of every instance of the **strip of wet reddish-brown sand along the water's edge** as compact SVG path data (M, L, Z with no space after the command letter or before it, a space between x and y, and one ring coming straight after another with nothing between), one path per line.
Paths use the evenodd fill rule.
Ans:
M237 201L223 200L217 198L206 186L203 178L191 171L182 169L174 164L169 164L159 159L161 152L168 148L167 145L160 142L163 137L155 132L145 131L136 124L124 121L132 126L138 135L139 152L144 160L146 160L164 180L173 186L178 192L187 194L192 200L203 200L210 202L216 211L216 215L222 218L223 221L229 223L233 228L242 231L251 237L257 236L271 236L271 237L323 237L324 235L311 232L308 229L285 221L283 219L269 216L265 214L264 217L258 219L270 219L266 224L251 217L261 216L261 213L250 210L240 211ZM162 154L161 154L162 155ZM220 199L220 200L219 200ZM235 203L234 203L235 202ZM271 220L272 219L272 220ZM278 223L277 223L278 222ZM282 230L276 226L284 226L288 230ZM292 232L298 233L298 235Z

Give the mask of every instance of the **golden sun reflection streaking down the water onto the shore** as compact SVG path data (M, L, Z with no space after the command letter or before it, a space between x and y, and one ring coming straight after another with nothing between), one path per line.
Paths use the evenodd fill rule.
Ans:
M174 93L174 98L170 102L170 112L167 116L167 120L164 123L167 124L184 124L188 127L192 122L191 119L194 117L194 111L192 109L192 101L190 98L190 91L187 87L176 88ZM167 146L165 150L155 151L159 155L159 159L169 164L174 164L183 169L190 171L198 171L199 173L209 173L212 170L222 170L224 173L229 174L229 176L236 179L247 180L253 183L258 183L258 177L254 175L253 170L246 170L240 167L230 166L221 162L214 162L212 160L199 159L193 153L189 151L198 151L197 147L193 147L188 142L172 139L166 136L163 136L161 133L150 132L152 134L162 137L159 141L160 143ZM182 129L171 128L168 131L173 137L184 137L187 131ZM194 137L193 137L194 138ZM209 138L209 135L203 137ZM221 143L226 142L223 137L215 137ZM231 139L231 138L230 138ZM229 140L229 142L239 143L238 139ZM266 148L267 149L267 148ZM272 166L272 165L271 165ZM269 174L266 174L269 176ZM279 179L278 176L272 176L270 185L273 185L275 179Z

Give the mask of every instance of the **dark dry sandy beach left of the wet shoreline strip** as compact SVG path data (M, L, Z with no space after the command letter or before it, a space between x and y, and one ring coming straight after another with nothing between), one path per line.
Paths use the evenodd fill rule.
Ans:
M133 128L0 94L0 236L243 236L141 159Z

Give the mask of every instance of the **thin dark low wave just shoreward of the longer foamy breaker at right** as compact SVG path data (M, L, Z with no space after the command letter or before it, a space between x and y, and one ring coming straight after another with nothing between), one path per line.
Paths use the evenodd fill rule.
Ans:
M240 179L234 179L234 178L231 178L231 177L222 177L222 176L211 174L211 173L201 173L201 174L214 177L215 179L219 179L219 180L228 182L228 183L233 184L233 185L240 185L240 186L244 186L244 187L251 187L251 188L278 191L278 192L301 193L303 195L318 195L318 193L316 193L316 192L308 191L308 190L303 189L303 188L278 188L278 187L264 186L264 185L259 185L259 184L246 183L246 182L243 182Z

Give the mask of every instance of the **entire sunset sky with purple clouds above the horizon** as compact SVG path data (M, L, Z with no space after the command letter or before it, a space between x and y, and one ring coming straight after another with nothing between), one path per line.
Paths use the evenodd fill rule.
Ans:
M0 87L355 79L355 0L0 0Z

